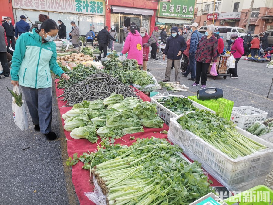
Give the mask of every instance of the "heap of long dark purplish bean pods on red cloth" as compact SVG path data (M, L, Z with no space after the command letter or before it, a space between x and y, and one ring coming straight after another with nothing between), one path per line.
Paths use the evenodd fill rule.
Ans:
M100 71L94 75L90 75L79 83L66 87L64 94L59 97L64 96L63 100L67 100L66 105L72 106L84 100L93 101L105 99L113 92L122 94L124 97L137 97L133 88L121 83L117 78L113 78L107 73L102 73Z

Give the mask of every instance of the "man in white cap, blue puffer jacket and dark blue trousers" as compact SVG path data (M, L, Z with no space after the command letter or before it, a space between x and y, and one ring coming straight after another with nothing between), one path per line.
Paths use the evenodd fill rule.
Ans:
M195 52L197 49L197 44L199 43L200 39L202 38L201 33L197 30L198 28L197 23L193 23L191 28L191 37L190 37L190 50L189 50L189 66L185 73L182 73L184 77L187 77L189 73L191 73L191 77L188 80L195 81L195 73L196 73L196 60L195 60Z

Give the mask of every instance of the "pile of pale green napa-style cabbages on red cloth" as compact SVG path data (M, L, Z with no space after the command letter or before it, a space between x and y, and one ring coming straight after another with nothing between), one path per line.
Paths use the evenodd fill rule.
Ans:
M64 129L72 131L72 138L86 138L94 143L98 140L97 135L117 139L126 134L144 132L142 126L162 128L164 122L156 111L154 103L143 102L137 97L124 99L123 95L112 93L104 100L75 104L62 118L65 120Z

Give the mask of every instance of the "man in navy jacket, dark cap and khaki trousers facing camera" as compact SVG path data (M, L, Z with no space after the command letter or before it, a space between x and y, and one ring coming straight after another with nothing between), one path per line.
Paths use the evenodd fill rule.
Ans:
M170 81L170 73L172 63L174 62L175 81L179 82L179 67L182 53L186 50L187 45L183 36L178 34L178 28L174 26L171 29L171 36L167 39L166 47L163 52L163 60L167 55L167 66L165 72L165 80L163 82Z

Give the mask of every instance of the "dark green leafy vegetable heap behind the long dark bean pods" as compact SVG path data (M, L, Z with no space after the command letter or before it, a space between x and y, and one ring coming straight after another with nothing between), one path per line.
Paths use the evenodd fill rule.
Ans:
M78 64L76 67L74 67L72 70L65 71L70 79L59 80L59 84L57 85L58 88L68 88L71 85L78 83L80 81L83 81L86 77L89 75L92 75L97 72L96 67L85 67L83 64Z

